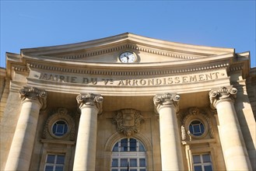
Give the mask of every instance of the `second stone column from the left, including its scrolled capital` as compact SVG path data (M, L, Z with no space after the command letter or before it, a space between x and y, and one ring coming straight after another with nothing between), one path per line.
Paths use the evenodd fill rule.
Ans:
M77 96L76 100L81 116L73 170L95 170L97 114L102 111L103 97L86 93Z

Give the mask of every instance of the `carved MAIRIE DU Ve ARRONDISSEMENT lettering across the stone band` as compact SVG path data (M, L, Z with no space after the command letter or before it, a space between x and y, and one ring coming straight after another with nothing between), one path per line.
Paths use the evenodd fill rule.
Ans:
M221 79L226 77L226 75L222 72L209 72L203 74L177 75L153 79L110 79L40 73L40 75L34 75L34 77L41 80L54 82L69 82L99 86L168 86L174 84L186 84L191 82L204 82L214 79Z

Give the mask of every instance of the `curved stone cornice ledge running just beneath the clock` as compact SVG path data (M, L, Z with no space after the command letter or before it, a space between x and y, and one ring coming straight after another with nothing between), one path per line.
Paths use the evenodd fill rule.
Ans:
M44 60L42 60L42 58ZM202 65L223 65L223 63L232 63L233 54L220 54L206 58L195 58L190 60L174 60L174 61L153 61L153 62L137 62L133 64L122 64L117 61L100 62L100 61L82 61L72 59L60 59L52 58L47 56L36 56L36 55L23 55L23 61L26 63L33 64L46 64L46 65L61 65L61 66L72 66L73 68L184 68L188 66L202 66Z

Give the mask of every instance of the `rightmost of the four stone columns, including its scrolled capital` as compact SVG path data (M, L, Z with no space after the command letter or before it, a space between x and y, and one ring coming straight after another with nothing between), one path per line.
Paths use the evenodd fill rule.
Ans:
M237 89L221 87L212 89L209 98L212 109L219 117L219 137L223 148L226 170L251 170L251 163L244 144L233 103Z

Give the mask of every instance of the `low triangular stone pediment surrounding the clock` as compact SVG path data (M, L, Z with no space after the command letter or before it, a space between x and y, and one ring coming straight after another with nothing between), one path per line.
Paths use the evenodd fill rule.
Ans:
M23 49L23 56L54 58L60 61L120 63L124 51L137 54L139 63L188 61L233 53L231 48L205 47L123 33L114 37L90 40L78 44Z

